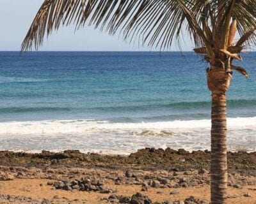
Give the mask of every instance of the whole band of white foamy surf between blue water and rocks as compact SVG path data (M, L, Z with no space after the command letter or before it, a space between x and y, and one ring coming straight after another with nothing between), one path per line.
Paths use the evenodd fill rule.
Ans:
M256 117L228 118L229 150L256 150ZM210 149L210 120L113 123L107 120L41 120L0 123L0 149L129 154L145 147Z

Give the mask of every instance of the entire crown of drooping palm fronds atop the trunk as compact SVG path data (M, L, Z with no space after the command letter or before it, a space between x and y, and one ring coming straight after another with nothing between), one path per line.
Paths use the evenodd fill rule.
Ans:
M256 28L255 0L45 0L29 28L21 50L38 50L45 36L61 25L92 25L123 40L139 40L143 45L168 49L173 40L188 33L195 48L205 47L210 58L230 52L234 39L230 23L236 19L244 41L256 43L255 35L244 34ZM242 40L237 42L241 47ZM241 51L241 50L240 50ZM230 52L235 54L234 52Z

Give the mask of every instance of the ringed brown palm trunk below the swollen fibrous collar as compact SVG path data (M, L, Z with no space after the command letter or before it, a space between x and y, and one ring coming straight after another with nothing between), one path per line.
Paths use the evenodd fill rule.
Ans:
M223 91L212 91L211 204L227 203L227 105Z

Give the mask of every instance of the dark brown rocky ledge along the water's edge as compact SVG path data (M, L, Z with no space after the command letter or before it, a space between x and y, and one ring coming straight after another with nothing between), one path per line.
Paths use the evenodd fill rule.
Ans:
M38 166L46 165L52 160L58 161L59 165L79 165L87 166L101 163L104 166L129 166L133 164L138 168L154 170L179 169L186 170L192 168L198 170L205 168L209 170L211 162L211 151L193 150L191 152L179 149L173 150L145 148L139 149L131 154L100 154L94 152L83 153L79 150L64 150L61 152L51 152L42 150L40 153L13 152L9 150L0 150L0 165L7 166ZM256 175L256 152L228 152L228 170L229 171L248 171Z

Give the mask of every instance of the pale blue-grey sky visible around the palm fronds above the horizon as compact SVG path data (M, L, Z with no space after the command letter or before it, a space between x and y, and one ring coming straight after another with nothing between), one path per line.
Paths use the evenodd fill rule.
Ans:
M26 35L36 11L44 0L0 0L0 51L20 50L20 45ZM40 51L159 51L159 48L138 46L138 43L125 43L118 36L100 33L93 27L83 27L75 31L74 26L61 27L52 33L48 40L45 38ZM192 51L193 44L185 39L183 51ZM177 44L177 43L176 43ZM170 51L177 51L175 43Z

